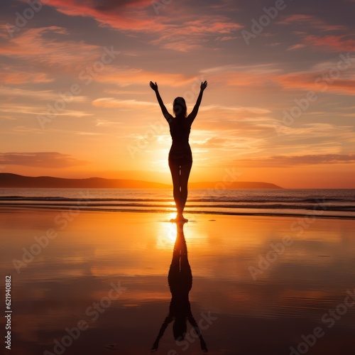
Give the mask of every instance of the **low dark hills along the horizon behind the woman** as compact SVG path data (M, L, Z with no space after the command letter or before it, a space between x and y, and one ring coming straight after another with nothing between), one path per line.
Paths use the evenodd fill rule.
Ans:
M282 187L268 182L231 182L225 185L223 182L190 182L192 189L281 189ZM122 179L65 179L51 176L22 176L11 173L0 173L0 187L26 187L26 188L115 188L115 189L159 189L171 188L171 185L159 182Z

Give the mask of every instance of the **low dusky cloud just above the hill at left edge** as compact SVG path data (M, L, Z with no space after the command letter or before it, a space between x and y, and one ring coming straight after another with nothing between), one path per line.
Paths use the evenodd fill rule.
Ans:
M87 161L72 158L71 155L57 152L0 153L0 164L4 165L60 169L85 165L87 163Z

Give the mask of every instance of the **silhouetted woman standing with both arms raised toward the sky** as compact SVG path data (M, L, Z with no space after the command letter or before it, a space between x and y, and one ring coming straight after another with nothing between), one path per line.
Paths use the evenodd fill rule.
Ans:
M178 214L175 221L187 222L182 215L187 200L187 182L192 167L192 152L189 144L189 136L192 122L197 116L201 104L202 94L207 87L207 82L201 83L200 94L194 109L187 115L186 102L183 97L177 97L173 103L175 117L169 114L163 100L158 92L158 85L150 82L151 88L155 91L160 109L170 126L170 135L173 138L169 152L169 168L173 178L173 194Z

